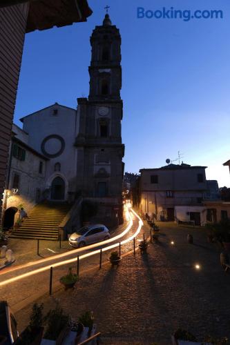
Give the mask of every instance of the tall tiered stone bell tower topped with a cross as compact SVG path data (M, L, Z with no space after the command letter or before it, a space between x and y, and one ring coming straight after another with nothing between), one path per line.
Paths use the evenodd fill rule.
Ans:
M100 215L116 225L122 221L124 174L122 56L121 36L108 13L93 30L90 45L89 95L77 99L77 193L98 201Z

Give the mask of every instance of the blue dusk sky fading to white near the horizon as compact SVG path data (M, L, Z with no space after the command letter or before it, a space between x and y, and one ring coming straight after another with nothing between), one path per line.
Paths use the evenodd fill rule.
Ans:
M207 178L230 186L229 0L88 0L87 23L26 35L15 123L57 101L88 96L90 34L111 6L122 34L122 139L126 171L184 163L208 166ZM146 10L222 10L223 19L137 19ZM20 125L21 126L21 125Z

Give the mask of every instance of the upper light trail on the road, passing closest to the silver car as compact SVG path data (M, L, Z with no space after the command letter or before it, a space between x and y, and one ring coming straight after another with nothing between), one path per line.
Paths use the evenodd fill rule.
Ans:
M74 255L75 253L77 254L79 252L82 252L82 250L93 249L93 248L96 248L98 246L102 246L104 244L108 244L108 243L114 242L117 239L124 237L128 233L128 231L131 230L131 228L133 226L133 219L131 217L132 215L129 212L130 208L131 208L131 203L128 203L128 204L124 205L124 213L125 213L126 221L128 221L128 226L119 235L111 237L110 239L106 239L105 241L102 241L102 242L97 242L95 244L90 244L89 246L86 246L84 248L77 248L77 249L71 250L70 252L64 252L64 253L61 253L61 254L58 254L58 255L53 255L52 257L46 257L44 259L39 259L39 260L37 260L35 262L28 262L28 264L24 264L24 265L20 265L20 266L17 266L17 267L9 268L8 270L0 272L0 276L1 275L6 275L6 274L8 274L10 272L14 272L15 270L21 270L23 268L28 268L28 267L31 267L31 266L42 264L44 262L49 262L49 261L52 261L52 260L55 260L55 259L59 259L61 257L68 257L70 255ZM0 282L0 286L1 286L1 282Z

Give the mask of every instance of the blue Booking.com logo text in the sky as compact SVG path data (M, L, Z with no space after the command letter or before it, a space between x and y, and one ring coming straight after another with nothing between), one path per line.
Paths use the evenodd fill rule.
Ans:
M165 7L162 10L145 10L143 7L137 7L137 19L222 19L222 10L175 10L171 7L169 10Z

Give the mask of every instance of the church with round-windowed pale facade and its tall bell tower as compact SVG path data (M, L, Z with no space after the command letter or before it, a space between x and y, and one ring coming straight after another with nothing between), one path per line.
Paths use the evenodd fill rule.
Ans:
M55 103L23 117L26 134L20 132L20 137L16 134L15 138L19 146L26 138L24 144L46 158L41 159L41 200L74 203L82 196L97 202L99 221L107 219L108 225L117 225L122 223L124 174L121 37L108 14L102 26L93 30L90 44L88 98L77 99L77 110ZM18 189L19 193L23 189L20 177ZM37 202L37 189L36 195L35 190L31 193L30 199Z

